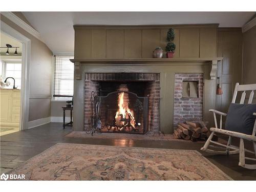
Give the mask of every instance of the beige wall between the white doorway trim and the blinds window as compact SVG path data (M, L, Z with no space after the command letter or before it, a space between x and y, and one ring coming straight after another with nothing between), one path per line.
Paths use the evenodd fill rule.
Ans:
M22 13L15 14L19 16ZM51 116L53 59L51 50L44 42L26 32L2 14L1 20L31 40L29 121Z

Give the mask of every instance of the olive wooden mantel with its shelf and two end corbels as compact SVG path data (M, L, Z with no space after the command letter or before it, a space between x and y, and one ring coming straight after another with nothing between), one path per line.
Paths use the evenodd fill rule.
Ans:
M89 59L70 59L74 62L75 79L80 80L83 65L109 65L109 66L152 66L152 65L211 65L209 74L210 79L216 79L217 62L223 57L212 58L89 58Z

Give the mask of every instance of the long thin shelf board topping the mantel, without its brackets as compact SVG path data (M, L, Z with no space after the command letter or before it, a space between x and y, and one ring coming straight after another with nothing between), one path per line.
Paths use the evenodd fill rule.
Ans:
M80 62L81 65L88 63L174 63L174 62L207 62L221 61L223 57L207 58L90 58L90 59L70 59L71 62Z

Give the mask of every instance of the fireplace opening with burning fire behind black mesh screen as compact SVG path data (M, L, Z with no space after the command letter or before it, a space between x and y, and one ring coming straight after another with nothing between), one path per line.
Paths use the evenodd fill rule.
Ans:
M147 132L148 82L99 82L101 132Z

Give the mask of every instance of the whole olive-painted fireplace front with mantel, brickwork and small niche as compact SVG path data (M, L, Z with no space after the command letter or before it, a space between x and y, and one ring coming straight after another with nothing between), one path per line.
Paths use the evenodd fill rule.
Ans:
M193 119L209 121L211 126L209 109L215 108L218 60L221 58L74 59L73 130L91 126L92 91L99 97L118 91L132 92L139 99L149 95L148 125L143 133L173 133L177 122ZM186 89L178 90L178 84ZM115 113L118 95L113 100L116 107L106 105L106 109ZM129 108L135 110L134 103ZM101 109L101 118L109 123L103 115L106 111Z

